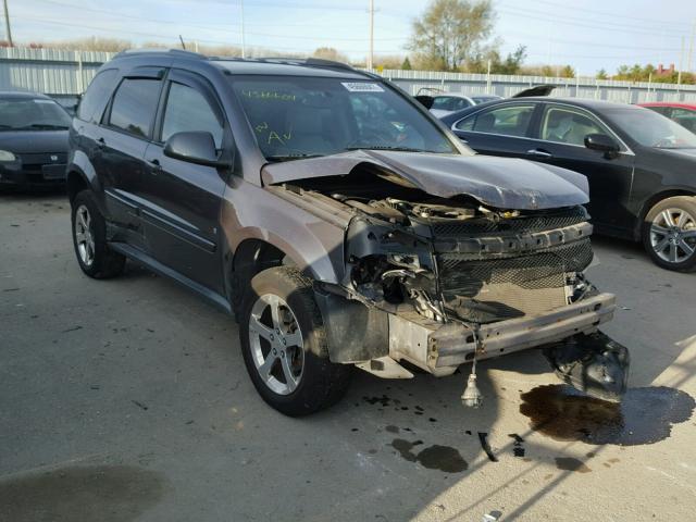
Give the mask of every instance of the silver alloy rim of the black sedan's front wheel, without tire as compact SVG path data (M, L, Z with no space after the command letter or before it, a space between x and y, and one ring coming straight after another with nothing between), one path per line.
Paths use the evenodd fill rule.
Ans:
M664 209L650 224L650 246L668 263L682 263L696 252L696 217L683 209Z

